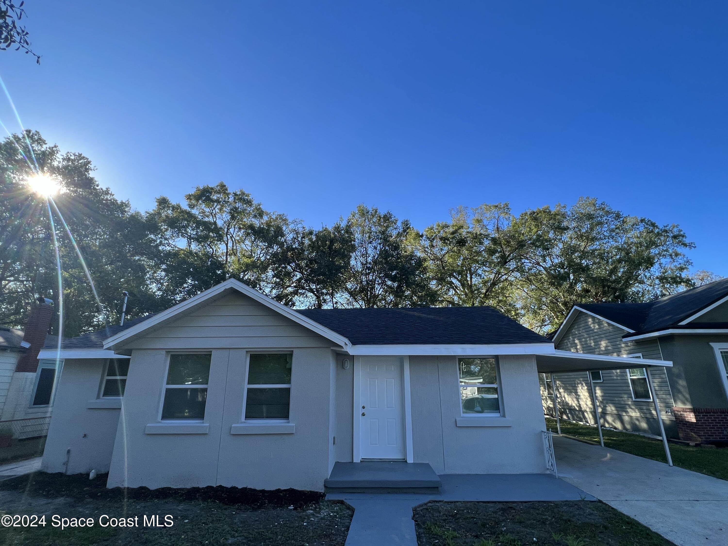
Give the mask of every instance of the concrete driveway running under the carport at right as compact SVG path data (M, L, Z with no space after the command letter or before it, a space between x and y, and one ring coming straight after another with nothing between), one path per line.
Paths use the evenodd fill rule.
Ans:
M680 546L728 543L728 481L553 437L558 477Z

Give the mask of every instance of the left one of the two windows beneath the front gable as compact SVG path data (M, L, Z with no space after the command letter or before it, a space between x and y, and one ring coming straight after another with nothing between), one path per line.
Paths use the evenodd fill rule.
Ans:
M202 421L210 379L210 353L170 355L162 401L163 421Z

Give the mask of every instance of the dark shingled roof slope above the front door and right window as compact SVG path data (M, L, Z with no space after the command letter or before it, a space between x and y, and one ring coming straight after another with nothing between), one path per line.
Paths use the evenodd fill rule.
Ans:
M491 307L296 309L354 345L513 344L549 340Z

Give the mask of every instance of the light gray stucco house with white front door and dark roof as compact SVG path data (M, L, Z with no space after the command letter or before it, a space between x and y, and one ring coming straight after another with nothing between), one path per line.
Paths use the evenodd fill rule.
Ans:
M556 351L489 307L294 310L236 280L60 356L44 471L315 491L392 461L547 472L539 371L633 363Z

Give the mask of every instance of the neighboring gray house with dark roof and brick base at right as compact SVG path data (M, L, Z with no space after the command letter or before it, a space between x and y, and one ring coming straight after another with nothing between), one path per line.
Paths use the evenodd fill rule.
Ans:
M654 368L665 431L693 442L728 441L728 279L649 303L580 304L553 336L557 349L594 355L669 360ZM660 434L645 371L593 371L602 424ZM586 373L542 375L542 399L553 415L595 423Z

